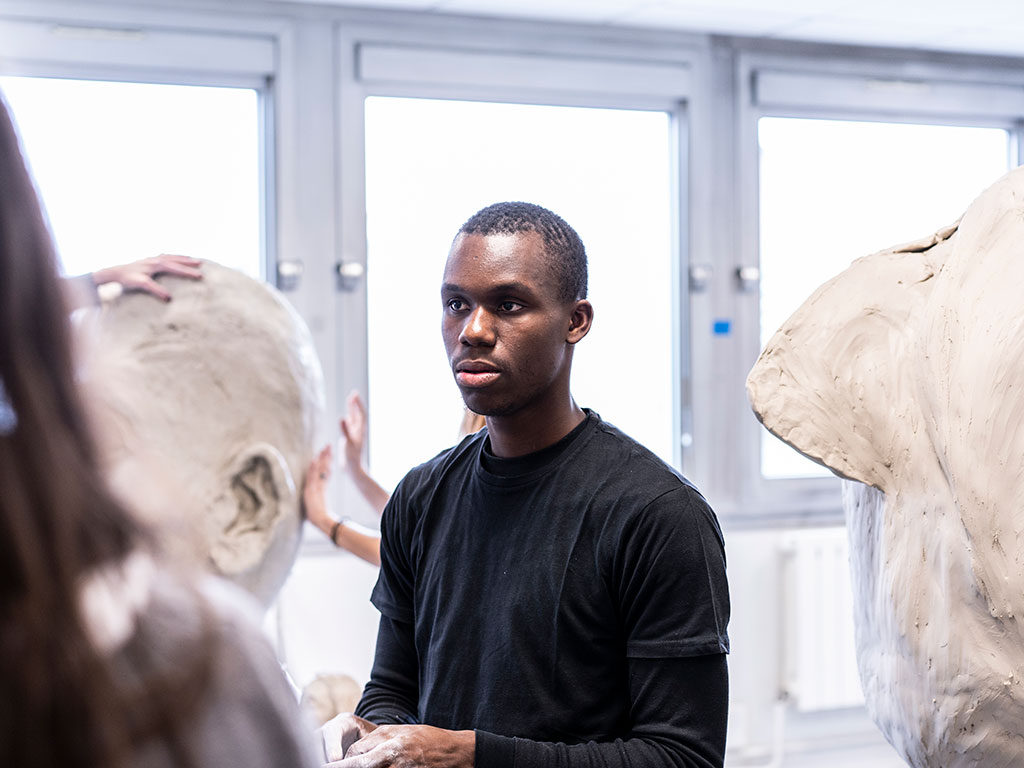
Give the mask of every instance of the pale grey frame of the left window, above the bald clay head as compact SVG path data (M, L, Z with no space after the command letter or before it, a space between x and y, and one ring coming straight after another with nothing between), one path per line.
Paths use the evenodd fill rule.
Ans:
M336 261L337 127L333 112L321 106L335 96L334 14L317 11L240 9L221 0L187 8L6 0L0 74L255 89L263 164L261 273L306 321L332 381L336 294L321 275L330 278ZM281 281L282 267L300 275L293 287ZM333 390L326 395L327 414L338 413Z

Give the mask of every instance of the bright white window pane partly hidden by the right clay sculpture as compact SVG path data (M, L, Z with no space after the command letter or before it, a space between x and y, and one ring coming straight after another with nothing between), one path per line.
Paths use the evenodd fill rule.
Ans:
M1009 170L992 128L762 118L761 345L854 259L955 221ZM762 433L765 477L828 474Z

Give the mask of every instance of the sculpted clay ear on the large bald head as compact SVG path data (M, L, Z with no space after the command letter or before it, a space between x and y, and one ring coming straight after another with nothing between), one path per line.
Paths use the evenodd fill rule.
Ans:
M209 530L210 559L233 577L258 565L273 545L278 524L298 508L295 481L275 447L254 443L228 468L226 487L215 502Z

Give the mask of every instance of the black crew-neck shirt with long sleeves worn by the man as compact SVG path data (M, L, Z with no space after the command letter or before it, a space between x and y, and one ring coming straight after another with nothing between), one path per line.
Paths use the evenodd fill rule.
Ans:
M477 768L720 766L729 602L703 499L596 414L522 459L485 440L385 510L356 714L472 728Z

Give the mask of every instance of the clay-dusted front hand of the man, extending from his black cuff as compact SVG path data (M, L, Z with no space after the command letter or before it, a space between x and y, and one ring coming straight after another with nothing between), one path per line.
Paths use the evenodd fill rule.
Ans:
M430 725L381 725L353 743L345 752L344 760L329 765L332 768L473 768L475 754L473 731L447 731Z

